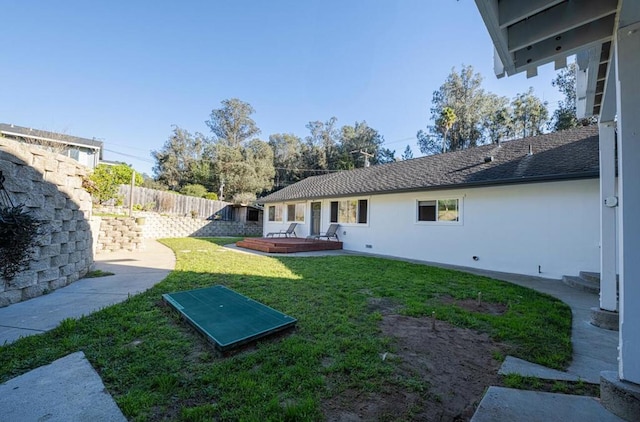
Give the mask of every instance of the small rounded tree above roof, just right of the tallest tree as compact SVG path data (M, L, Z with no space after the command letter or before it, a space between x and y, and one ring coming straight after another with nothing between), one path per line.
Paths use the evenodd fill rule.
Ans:
M511 101L511 108L513 110L513 129L516 135L522 133L522 137L525 138L543 133L543 127L549 120L549 110L547 103L542 102L533 94L533 88L518 94Z

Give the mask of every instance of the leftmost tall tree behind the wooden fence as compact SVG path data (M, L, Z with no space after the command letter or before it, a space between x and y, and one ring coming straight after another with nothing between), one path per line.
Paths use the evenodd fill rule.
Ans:
M210 141L201 133L195 136L173 126L173 133L159 151L152 151L156 160L153 172L156 180L169 189L179 191L187 184L202 184L213 188Z

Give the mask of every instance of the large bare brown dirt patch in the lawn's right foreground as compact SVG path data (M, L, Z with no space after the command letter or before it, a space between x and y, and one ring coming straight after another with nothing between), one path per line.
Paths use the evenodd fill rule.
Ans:
M487 334L384 311L380 328L396 341L397 352L384 356L397 366L396 382L382 392L350 390L325 402L326 420L467 421L485 390L501 384L494 356L507 347Z

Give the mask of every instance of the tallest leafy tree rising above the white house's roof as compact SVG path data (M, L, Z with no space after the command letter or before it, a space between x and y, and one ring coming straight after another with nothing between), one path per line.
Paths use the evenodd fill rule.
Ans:
M429 132L418 132L418 145L424 154L442 151L445 143L441 120L445 108L450 108L455 121L446 131L446 150L456 151L474 147L485 142L483 138L483 120L487 112L488 95L482 85L482 76L473 72L472 66L462 66L460 73L455 68L444 84L433 93L431 119L434 125ZM440 125L438 124L440 123Z

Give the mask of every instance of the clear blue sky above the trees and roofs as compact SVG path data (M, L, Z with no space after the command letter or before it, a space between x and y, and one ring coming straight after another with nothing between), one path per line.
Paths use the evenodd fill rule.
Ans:
M471 0L8 0L2 15L0 122L95 137L105 159L149 174L171 125L208 133L227 98L255 108L263 140L335 116L415 156L454 66L472 65L499 95L533 86L551 109L562 99L553 65L494 76Z

